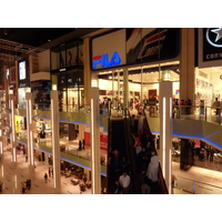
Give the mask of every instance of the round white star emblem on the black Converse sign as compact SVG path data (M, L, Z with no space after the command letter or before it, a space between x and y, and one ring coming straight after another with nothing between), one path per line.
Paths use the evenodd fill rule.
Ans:
M205 38L212 47L222 48L222 28L209 28Z

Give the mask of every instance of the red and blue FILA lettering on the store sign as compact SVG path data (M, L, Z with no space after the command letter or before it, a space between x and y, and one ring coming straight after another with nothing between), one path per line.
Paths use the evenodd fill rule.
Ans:
M118 52L113 52L112 58L109 59L109 54L102 54L93 57L92 68L97 69L98 64L101 64L102 68L113 67L121 63L121 59Z

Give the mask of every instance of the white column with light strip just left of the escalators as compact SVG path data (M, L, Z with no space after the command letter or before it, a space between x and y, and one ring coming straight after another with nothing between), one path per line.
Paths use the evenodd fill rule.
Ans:
M92 194L101 194L99 88L91 88Z

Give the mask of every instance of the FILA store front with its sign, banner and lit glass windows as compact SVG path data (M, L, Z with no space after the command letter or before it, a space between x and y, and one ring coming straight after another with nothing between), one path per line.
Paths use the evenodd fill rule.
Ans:
M100 103L137 113L140 105L158 105L161 81L172 81L179 99L179 29L120 29L94 37L91 74Z

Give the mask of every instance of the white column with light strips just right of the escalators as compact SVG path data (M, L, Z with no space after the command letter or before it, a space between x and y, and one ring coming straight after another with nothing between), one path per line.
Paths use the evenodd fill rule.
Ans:
M160 83L160 151L163 178L171 194L172 82Z

